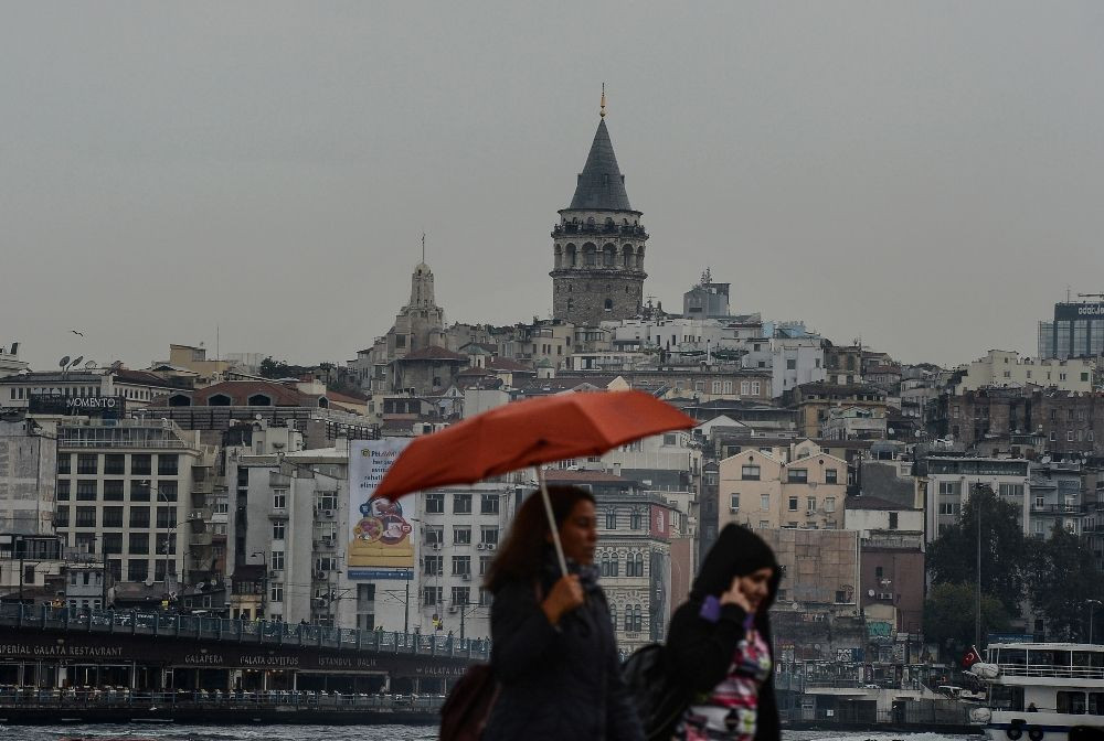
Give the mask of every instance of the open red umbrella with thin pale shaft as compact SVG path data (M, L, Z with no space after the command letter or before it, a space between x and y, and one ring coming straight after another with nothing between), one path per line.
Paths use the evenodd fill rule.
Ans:
M540 464L602 453L694 421L643 391L561 394L496 407L415 438L392 464L372 498L396 500L410 492L474 484L489 476L534 466L552 538L564 567L552 503Z

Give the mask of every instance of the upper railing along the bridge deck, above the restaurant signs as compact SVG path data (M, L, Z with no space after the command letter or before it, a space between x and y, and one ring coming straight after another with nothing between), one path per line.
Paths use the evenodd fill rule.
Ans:
M162 635L194 641L410 653L486 661L490 643L482 638L361 631L267 620L226 620L141 610L73 611L65 608L0 605L0 625L43 631L79 631L115 635Z

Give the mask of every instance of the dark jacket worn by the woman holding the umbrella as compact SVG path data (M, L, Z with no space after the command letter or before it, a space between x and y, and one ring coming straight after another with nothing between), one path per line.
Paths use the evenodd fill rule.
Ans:
M495 594L491 667L501 689L482 741L640 741L602 589L587 590L556 627L537 597L535 584L519 582Z

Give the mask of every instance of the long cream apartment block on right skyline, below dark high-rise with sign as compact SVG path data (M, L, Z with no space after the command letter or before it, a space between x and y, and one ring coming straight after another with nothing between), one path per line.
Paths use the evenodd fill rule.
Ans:
M1029 385L1087 393L1093 390L1095 367L1091 359L1032 359L1021 358L1015 351L990 350L985 357L969 364L966 375L955 387L955 394L976 391L987 386Z

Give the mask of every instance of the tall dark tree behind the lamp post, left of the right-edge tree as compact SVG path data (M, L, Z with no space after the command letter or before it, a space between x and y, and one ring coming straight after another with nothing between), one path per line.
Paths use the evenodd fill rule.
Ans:
M980 518L980 530L978 519ZM1000 600L1009 615L1020 614L1030 555L1025 547L1017 509L988 486L975 486L962 518L927 549L927 570L934 584L977 583L977 544L981 543L981 592ZM974 608L968 616L973 620ZM969 634L973 635L973 627Z

